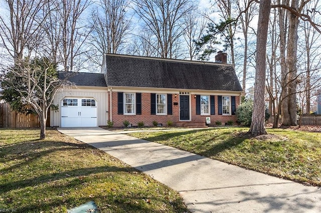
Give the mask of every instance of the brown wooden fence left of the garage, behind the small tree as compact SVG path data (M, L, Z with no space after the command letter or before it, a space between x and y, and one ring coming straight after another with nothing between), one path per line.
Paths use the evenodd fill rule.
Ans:
M46 126L50 126L50 112L48 112ZM12 110L8 103L0 103L0 127L40 127L40 122L37 114L20 113Z

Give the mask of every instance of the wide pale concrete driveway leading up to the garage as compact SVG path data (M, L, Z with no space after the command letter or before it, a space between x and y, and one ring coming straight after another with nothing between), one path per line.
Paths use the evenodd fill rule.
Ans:
M321 189L102 128L58 128L179 191L193 212L321 212Z

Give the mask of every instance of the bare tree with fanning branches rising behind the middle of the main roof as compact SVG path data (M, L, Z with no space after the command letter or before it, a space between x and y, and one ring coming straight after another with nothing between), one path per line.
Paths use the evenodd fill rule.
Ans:
M157 38L157 51L161 57L176 58L183 15L195 6L191 0L134 0L134 10L144 26Z

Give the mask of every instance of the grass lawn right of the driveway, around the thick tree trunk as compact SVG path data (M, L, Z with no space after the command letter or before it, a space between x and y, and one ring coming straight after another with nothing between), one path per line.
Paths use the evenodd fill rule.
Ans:
M321 133L267 129L251 137L248 128L135 132L154 141L244 168L321 186Z

